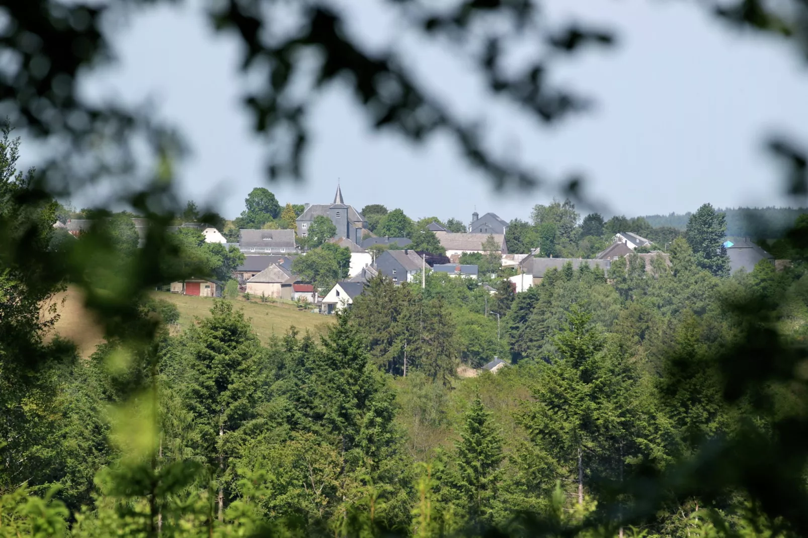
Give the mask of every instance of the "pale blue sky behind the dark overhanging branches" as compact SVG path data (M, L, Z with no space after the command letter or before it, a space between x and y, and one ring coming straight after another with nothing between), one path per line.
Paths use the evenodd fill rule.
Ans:
M368 45L397 36L380 2L342 3L350 6L351 32ZM763 147L770 132L808 144L808 69L793 49L722 26L692 2L549 0L545 8L554 21L613 27L620 40L553 71L554 80L596 103L553 128L492 102L451 53L396 39L433 95L486 121L495 149L549 177L583 173L584 191L606 213L786 203ZM119 62L94 74L88 90L157 103L191 146L178 170L183 194L226 217L238 216L254 187L268 187L281 204L322 204L338 181L347 204L384 204L413 218L470 221L476 210L527 219L535 204L558 196L552 185L495 191L445 137L413 146L373 131L337 86L313 109L305 179L269 184L267 142L250 132L239 104L244 86L233 40L215 35L192 7L163 6L134 15L116 31L115 47Z

